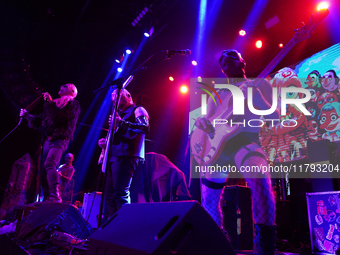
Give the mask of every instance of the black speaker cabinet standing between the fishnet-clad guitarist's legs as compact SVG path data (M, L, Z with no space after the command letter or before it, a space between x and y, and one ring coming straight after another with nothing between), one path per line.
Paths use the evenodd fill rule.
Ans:
M222 224L235 250L253 250L251 190L245 186L225 186L221 198Z

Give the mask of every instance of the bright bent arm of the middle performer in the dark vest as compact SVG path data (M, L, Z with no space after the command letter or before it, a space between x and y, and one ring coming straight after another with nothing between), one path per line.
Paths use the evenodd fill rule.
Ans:
M150 130L149 125L149 114L143 107L137 107L135 109L135 118L136 123L132 123L129 121L125 121L123 119L120 120L119 127L122 127L126 130L133 131L138 134L147 134Z

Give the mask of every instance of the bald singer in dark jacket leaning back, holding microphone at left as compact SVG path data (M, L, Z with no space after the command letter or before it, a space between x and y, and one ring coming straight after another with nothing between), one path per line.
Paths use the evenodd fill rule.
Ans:
M25 109L20 110L20 116L28 120L28 126L39 129L45 135L41 155L44 166L40 174L44 201L47 203L62 202L57 165L73 138L80 114L79 102L75 100L78 90L74 84L62 85L58 94L60 98L53 100L49 93L43 93L44 111L40 115L34 116Z

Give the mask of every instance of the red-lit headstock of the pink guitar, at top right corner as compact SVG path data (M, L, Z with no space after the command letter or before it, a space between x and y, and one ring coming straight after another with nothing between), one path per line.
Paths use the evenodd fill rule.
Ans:
M322 9L316 14L313 14L309 21L304 24L302 28L295 30L296 33L293 38L294 42L298 43L309 38L316 27L324 20L324 18L327 17L328 13L328 9Z

